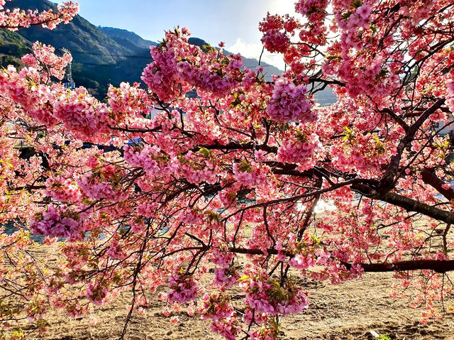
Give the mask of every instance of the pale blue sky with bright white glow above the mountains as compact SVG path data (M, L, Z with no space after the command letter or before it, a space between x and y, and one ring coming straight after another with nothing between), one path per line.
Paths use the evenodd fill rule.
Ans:
M60 3L62 1L59 1ZM192 35L245 57L259 57L258 23L270 13L289 13L294 0L78 0L79 14L96 26L133 31L148 40L187 26ZM265 62L283 66L282 57L265 55Z

